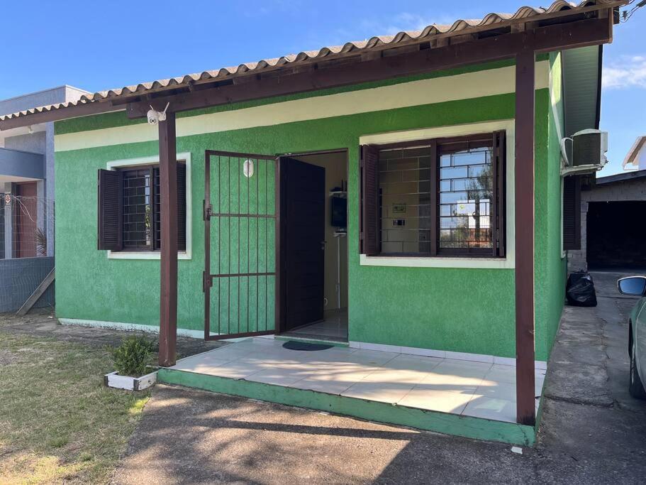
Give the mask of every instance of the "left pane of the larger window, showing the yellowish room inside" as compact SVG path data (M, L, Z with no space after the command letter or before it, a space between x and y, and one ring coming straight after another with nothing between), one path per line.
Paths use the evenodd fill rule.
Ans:
M430 252L430 147L379 153L382 253Z

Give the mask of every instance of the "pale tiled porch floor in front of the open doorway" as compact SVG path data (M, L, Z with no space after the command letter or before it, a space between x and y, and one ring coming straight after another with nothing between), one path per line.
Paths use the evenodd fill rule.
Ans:
M171 369L516 422L513 366L347 347L297 351L283 344L245 339L182 359ZM540 396L545 371L535 375ZM537 397L537 409L538 402Z

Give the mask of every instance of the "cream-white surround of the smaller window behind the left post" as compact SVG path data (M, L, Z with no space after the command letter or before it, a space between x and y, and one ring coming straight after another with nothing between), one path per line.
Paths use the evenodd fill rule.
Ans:
M177 153L177 161L186 164L186 251L177 251L177 259L192 259L193 257L193 227L192 227L192 191L191 191L191 153ZM160 163L158 155L142 158L128 158L126 160L112 160L106 164L108 170L121 168L136 168L138 165L153 165ZM162 255L160 251L107 251L108 259L157 259Z

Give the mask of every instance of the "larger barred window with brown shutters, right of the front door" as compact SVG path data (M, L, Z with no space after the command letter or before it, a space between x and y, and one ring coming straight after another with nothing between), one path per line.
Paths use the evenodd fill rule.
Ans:
M504 135L363 146L362 254L505 256Z

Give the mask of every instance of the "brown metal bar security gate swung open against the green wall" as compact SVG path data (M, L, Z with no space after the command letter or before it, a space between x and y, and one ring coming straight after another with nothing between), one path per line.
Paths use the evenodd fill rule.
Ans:
M273 334L277 315L277 159L206 151L204 338Z

